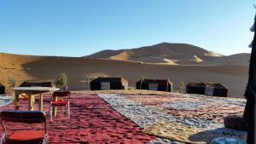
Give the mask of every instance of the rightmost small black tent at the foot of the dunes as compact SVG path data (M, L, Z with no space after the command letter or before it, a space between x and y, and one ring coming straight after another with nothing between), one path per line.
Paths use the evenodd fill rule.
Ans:
M220 97L228 96L227 88L225 88L222 84L213 83L190 82L186 86L186 92L188 94L211 95Z

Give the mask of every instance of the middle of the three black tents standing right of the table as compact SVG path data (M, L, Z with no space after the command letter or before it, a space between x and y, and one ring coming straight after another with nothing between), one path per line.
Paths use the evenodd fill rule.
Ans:
M172 82L169 79L144 79L143 83L141 80L136 83L136 89L172 92Z

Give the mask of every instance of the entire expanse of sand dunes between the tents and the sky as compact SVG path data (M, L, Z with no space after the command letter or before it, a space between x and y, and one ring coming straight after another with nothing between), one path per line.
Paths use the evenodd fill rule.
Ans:
M82 52L81 52L82 53ZM85 57L12 55L0 53L0 83L13 77L23 81L54 81L66 72L68 87L83 89L87 75L124 77L134 87L139 76L170 78L174 89L180 82L221 83L232 97L242 97L246 83L249 54L224 56L190 44L160 43L139 49L103 50ZM141 63L143 61L143 65Z

